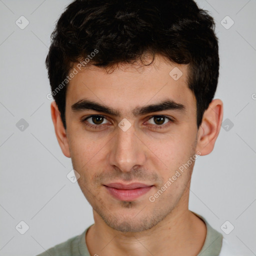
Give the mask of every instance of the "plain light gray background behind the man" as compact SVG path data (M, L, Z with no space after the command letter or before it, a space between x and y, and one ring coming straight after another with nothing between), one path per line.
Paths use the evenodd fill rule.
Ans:
M0 255L35 255L93 223L77 182L66 177L71 161L57 144L46 98L49 36L69 2L0 0ZM256 255L256 2L197 2L216 21L221 65L215 97L228 120L213 152L196 161L189 208L243 255ZM15 24L21 15L29 21L24 29ZM228 29L227 15L234 21ZM24 234L21 220L29 226ZM226 220L234 226L229 234L220 228Z

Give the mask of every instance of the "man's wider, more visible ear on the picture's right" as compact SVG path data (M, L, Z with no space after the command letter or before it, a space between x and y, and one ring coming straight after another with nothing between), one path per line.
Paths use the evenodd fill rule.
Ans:
M197 132L196 151L200 155L209 154L214 147L223 117L223 103L220 99L213 99L204 111L201 125Z

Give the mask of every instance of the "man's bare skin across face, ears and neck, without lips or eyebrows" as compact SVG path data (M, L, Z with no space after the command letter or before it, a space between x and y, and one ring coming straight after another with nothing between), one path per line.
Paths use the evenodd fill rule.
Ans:
M173 67L182 71L174 80ZM108 71L108 72L107 72ZM112 116L95 110L73 111L81 99L93 100L120 112ZM135 107L165 99L183 104L185 110L162 110L134 116ZM153 202L154 195L190 157L206 155L214 147L222 120L222 102L214 99L196 125L196 100L187 86L187 65L156 56L148 66L119 64L109 72L88 66L67 87L66 129L55 102L51 115L65 156L79 173L78 184L93 208L94 224L86 233L91 255L197 255L203 246L204 222L188 210L193 163ZM100 128L86 125L92 114L106 117ZM155 128L154 115L166 115L167 126ZM123 131L118 123L131 126ZM162 124L162 125L164 125ZM132 201L112 197L103 184L141 182L153 185ZM160 237L160 239L159 239Z

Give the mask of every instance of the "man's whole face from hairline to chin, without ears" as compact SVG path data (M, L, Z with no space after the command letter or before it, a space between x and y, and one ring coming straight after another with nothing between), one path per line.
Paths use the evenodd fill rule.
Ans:
M182 71L177 80L169 75L174 67ZM87 67L68 85L65 117L78 184L108 226L147 230L187 207L197 126L186 65L157 56L111 73Z

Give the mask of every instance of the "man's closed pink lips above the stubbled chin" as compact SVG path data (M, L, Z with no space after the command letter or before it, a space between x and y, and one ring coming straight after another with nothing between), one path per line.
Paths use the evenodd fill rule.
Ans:
M109 183L104 185L107 191L115 199L122 201L132 201L147 193L153 185L147 185L143 183Z

